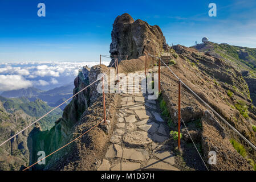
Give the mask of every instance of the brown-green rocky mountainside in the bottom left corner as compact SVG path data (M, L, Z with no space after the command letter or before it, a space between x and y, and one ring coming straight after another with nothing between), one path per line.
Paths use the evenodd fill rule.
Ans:
M7 113L0 101L0 143L29 125L33 118L22 110ZM0 171L20 170L29 164L27 137L31 129L19 134L0 148Z

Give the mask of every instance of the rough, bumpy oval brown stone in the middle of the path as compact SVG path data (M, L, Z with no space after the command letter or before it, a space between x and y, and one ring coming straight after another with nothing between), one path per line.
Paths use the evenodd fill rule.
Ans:
M144 131L132 131L124 136L124 143L129 146L148 146L152 140L149 138L149 134Z

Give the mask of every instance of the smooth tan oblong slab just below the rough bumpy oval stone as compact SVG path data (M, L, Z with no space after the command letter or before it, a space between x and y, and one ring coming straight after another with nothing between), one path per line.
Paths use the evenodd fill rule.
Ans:
M144 161L149 158L149 153L146 150L139 151L133 148L123 148L123 158Z

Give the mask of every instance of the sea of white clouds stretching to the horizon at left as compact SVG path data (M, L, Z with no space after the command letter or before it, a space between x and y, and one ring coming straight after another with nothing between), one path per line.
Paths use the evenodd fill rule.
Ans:
M0 63L0 92L34 86L48 90L73 84L83 66L92 67L99 62L23 62ZM108 65L109 61L103 61Z

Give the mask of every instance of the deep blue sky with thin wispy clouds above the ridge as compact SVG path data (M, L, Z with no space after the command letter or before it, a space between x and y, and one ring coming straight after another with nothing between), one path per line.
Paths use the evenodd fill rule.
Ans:
M38 17L38 3L46 17ZM217 17L208 16L216 3ZM169 44L256 47L256 1L0 1L0 61L98 61L109 54L112 24L130 14L159 25Z

